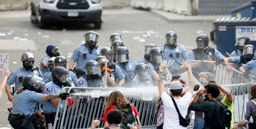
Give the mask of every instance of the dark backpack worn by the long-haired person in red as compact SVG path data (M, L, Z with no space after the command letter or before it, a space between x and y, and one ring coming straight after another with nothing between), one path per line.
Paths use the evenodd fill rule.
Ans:
M127 104L127 106L125 108L121 108L122 104L124 104L124 103ZM123 113L124 118L120 125L121 128L130 129L130 125L133 125L133 126L138 125L138 122L137 122L136 116L133 112L133 108L132 108L131 104L123 101L122 103L117 104L115 107L116 107L116 109L122 111L122 113Z

